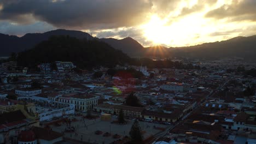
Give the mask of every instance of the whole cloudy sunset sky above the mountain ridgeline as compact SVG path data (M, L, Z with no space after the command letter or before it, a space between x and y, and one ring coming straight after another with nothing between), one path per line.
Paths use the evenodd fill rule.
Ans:
M189 46L256 34L256 0L0 0L0 33L54 29L143 46Z

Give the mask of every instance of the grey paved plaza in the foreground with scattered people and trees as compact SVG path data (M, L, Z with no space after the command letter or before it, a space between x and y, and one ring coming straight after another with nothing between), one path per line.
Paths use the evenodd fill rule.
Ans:
M69 118L73 118L69 117ZM101 121L101 118L97 119L86 119L83 117L75 116L76 119L78 119L77 122L72 122L71 127L74 127L74 132L63 132L65 131L65 128L67 128L68 124L62 124L61 126L57 127L55 125L51 125L50 127L54 131L58 131L60 133L64 133L65 137L76 139L76 140L82 140L87 142L95 142L95 143L111 143L115 140L112 137L112 135L118 134L121 137L119 139L122 139L124 136L129 136L129 131L131 129L131 126L133 124L134 120L126 119L127 124L116 124L111 123L112 121L116 121L117 117L113 116L112 121ZM160 130L155 129L154 127L158 128L166 128L167 125L162 124L155 124L155 123L148 123L148 122L139 122L139 125L141 126L142 130L144 131L144 138L147 139L147 137L154 135L158 133ZM103 133L100 135L96 135L95 131L100 130ZM104 133L110 133L111 136L103 136Z

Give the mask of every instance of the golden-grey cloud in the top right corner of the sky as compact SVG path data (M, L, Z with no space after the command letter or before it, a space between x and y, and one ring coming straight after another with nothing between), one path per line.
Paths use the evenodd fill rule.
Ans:
M232 1L231 4L225 4L220 8L208 11L205 17L215 19L228 18L230 21L256 21L256 1Z

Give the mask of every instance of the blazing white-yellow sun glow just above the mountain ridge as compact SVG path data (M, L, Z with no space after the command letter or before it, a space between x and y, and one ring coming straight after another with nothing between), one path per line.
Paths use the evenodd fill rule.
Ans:
M188 46L207 41L207 35L216 31L202 13L191 14L181 19L152 15L142 26L144 37L153 45ZM200 38L199 38L200 37Z

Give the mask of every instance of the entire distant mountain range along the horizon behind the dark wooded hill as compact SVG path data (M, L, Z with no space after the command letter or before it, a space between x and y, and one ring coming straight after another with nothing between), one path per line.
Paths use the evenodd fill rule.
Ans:
M246 60L255 60L256 57L256 35L251 37L236 37L229 40L205 43L188 47L151 46L143 47L136 40L128 37L125 39L91 37L90 34L81 31L69 31L57 29L45 33L26 34L19 38L12 35L0 34L0 56L9 56L11 52L21 52L32 49L36 44L47 40L52 35L69 35L78 39L96 39L104 41L115 49L121 50L129 56L146 57L195 57L216 59L222 57L242 57Z

